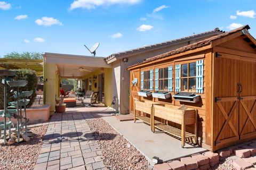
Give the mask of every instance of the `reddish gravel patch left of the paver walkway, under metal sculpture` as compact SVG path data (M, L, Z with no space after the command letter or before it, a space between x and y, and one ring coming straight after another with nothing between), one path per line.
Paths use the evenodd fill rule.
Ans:
M34 169L46 130L47 126L31 128L30 141L0 146L0 169Z

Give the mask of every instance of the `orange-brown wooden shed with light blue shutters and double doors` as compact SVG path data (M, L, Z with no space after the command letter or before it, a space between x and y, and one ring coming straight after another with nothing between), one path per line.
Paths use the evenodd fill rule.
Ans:
M153 120L169 124L171 130L182 125L170 106L195 109L197 126L185 124L186 134L196 134L198 144L212 151L256 139L256 40L248 29L245 25L128 67L130 111L150 117L143 110L162 104L167 112L161 108L160 115L172 118L153 115L150 123L153 128ZM137 101L150 105L135 109Z

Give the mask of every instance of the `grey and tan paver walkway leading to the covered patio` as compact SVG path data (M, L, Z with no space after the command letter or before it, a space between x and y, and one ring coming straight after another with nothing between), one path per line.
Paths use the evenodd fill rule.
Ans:
M34 169L106 169L101 149L85 120L110 116L108 111L104 107L83 107L54 114Z

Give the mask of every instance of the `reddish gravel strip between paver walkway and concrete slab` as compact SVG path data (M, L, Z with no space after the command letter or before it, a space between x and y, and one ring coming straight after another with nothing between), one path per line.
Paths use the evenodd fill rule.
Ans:
M146 158L102 118L86 122L102 149L108 169L150 169Z

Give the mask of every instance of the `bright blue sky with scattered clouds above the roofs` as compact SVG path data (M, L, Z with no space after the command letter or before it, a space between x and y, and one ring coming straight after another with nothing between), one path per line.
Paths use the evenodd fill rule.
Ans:
M219 27L249 24L256 37L256 1L0 0L0 56L11 52L97 56ZM232 16L231 16L232 15Z

